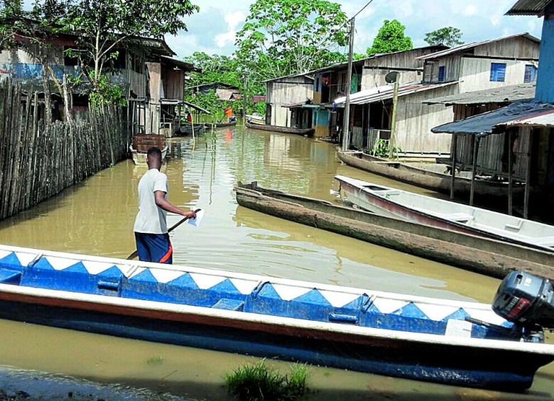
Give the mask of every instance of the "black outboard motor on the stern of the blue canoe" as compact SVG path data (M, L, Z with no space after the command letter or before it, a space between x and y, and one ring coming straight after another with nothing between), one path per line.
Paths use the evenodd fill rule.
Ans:
M528 341L554 331L554 287L550 280L523 272L512 272L500 283L492 309L523 329ZM533 332L535 334L533 334Z

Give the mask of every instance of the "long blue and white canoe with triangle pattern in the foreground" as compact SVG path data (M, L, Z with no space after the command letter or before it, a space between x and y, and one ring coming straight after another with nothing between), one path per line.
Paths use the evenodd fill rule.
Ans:
M513 328L490 304L0 246L1 319L501 390L554 360L467 317Z

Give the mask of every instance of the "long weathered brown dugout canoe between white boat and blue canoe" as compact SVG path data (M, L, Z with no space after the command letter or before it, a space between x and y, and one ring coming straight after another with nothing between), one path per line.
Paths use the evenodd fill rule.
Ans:
M554 255L526 246L391 219L359 209L258 187L235 188L242 207L495 278L511 271L554 280Z

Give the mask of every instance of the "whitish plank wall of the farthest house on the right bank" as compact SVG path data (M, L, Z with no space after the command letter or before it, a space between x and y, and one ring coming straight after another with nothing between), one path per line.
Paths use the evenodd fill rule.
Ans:
M290 126L290 110L283 105L313 99L313 82L308 77L284 77L281 80L283 82L266 84L266 105L271 107L271 120L268 123Z

